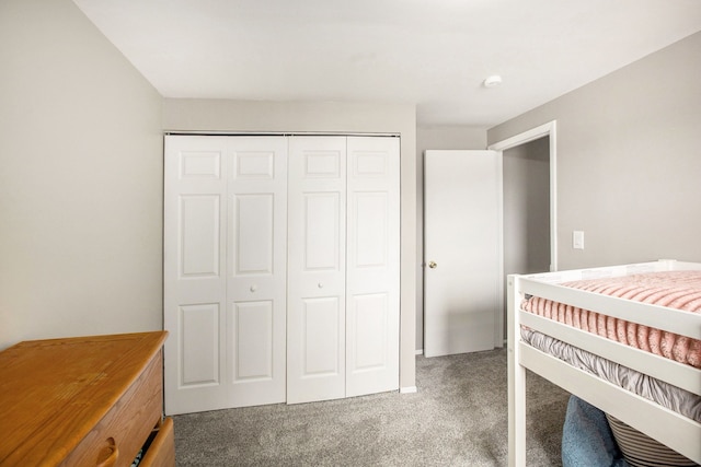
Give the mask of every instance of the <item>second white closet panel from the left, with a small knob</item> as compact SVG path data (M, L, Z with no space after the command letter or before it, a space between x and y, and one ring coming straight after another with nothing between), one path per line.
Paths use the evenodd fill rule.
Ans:
M229 138L227 357L231 407L286 400L287 141Z

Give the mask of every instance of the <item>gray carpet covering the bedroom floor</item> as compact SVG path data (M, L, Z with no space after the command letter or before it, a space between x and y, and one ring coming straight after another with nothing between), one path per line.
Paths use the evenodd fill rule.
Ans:
M529 466L561 466L568 395L528 374ZM506 466L504 349L416 358L415 394L174 417L179 466Z

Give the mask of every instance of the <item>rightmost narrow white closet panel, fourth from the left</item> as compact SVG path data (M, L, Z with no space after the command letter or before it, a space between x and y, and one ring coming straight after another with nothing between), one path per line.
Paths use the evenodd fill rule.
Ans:
M346 397L399 389L399 143L347 141Z

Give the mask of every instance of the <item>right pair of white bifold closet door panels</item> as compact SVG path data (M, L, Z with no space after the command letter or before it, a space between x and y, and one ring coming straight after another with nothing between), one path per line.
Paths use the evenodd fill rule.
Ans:
M399 139L289 149L287 401L398 389Z

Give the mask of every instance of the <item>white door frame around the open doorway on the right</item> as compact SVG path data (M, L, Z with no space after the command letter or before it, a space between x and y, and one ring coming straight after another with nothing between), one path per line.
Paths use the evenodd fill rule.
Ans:
M558 120L551 120L547 124L540 125L530 130L515 135L510 138L497 141L487 145L487 149L499 152L499 161L504 160L504 151L516 148L521 144L529 143L533 140L549 137L550 143L550 271L558 270ZM501 215L503 217L503 196L504 188L501 190L502 199L499 200L499 207L502 208ZM504 222L499 225L499 242L502 248L499 248L499 268L501 275L504 276ZM502 287L504 285L502 282ZM499 310L504 310L504 291L499 294ZM495 341L504 342L504 313L499 313L496 319Z

